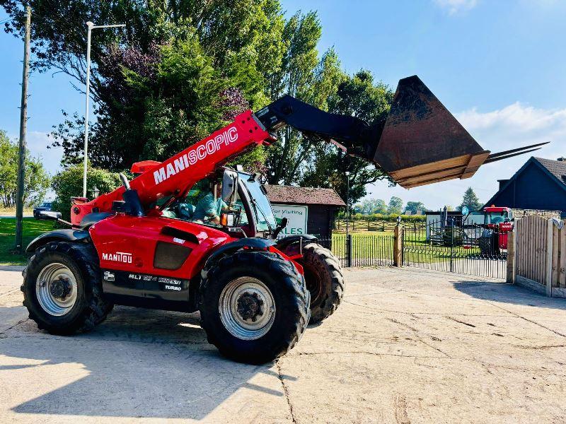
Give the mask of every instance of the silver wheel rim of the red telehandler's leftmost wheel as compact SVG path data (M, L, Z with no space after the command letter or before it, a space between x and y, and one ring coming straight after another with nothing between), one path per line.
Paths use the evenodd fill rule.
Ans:
M45 266L37 276L35 293L40 306L48 314L54 317L67 314L76 303L74 273L59 263Z

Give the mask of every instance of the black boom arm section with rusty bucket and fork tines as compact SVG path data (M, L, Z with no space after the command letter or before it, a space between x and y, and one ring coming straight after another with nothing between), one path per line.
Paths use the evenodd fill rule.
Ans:
M256 112L255 119L267 131L287 124L313 142L335 143L350 155L373 161L407 189L469 178L483 163L529 153L545 144L490 155L416 75L399 81L388 116L373 126L289 95Z

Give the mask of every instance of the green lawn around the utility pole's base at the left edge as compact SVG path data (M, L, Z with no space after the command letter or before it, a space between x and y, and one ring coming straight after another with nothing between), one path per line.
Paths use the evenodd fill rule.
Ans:
M35 220L23 218L23 248L42 232L53 229L53 222L48 220ZM0 265L25 265L26 254L13 254L15 242L16 220L14 218L0 218Z

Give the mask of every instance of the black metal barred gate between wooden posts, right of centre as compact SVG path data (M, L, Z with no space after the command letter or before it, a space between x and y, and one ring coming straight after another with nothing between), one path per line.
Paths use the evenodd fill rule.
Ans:
M403 228L403 266L506 278L507 252L498 239L493 229L456 220L409 225Z

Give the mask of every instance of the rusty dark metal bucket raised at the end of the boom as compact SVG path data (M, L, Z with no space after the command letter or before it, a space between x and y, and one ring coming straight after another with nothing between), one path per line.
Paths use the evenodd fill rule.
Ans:
M417 76L399 81L374 161L405 188L469 178L490 155Z

